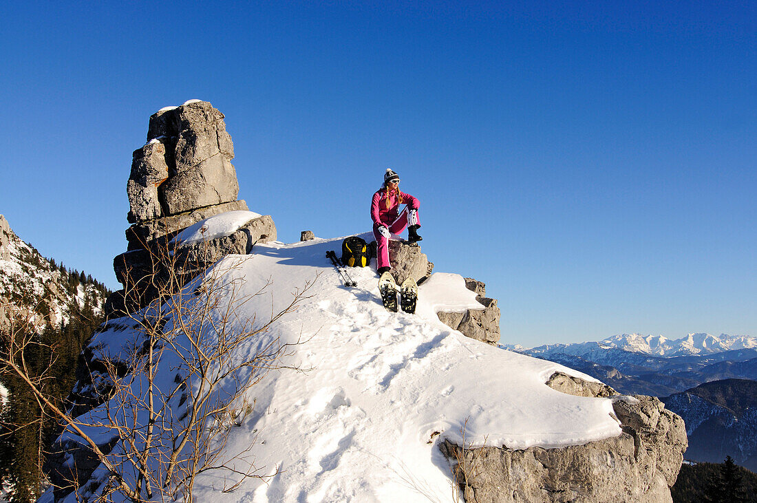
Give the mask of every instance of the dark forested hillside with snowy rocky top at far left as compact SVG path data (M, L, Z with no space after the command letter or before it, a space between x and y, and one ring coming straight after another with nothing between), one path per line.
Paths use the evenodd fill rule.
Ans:
M11 231L0 215L0 352L23 356L40 387L65 406L77 359L102 322L110 291L84 271L46 259ZM0 367L0 480L8 501L35 501L58 424L29 387Z

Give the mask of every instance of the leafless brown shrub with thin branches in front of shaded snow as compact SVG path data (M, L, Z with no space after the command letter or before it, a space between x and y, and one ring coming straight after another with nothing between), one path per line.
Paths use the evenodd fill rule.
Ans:
M92 369L92 387L103 402L85 414L75 417L77 408L56 406L42 387L49 376L30 376L24 355L33 338L20 329L8 335L0 364L58 418L58 446L89 459L58 466L51 476L57 495L76 491L77 500L107 501L117 492L134 502L192 501L195 480L207 470L224 471L226 491L248 477L264 477L246 452L250 446L233 451L227 439L253 410L252 388L269 371L302 370L286 358L302 341L282 341L272 328L308 298L313 282L259 320L241 313L267 294L271 282L246 290L244 278L230 274L245 257L226 257L205 272L202 263L186 257L164 242L151 248L148 270L126 272L124 306L145 304L148 290L152 300L106 322L103 335L110 337L101 337L100 346L93 337L98 369ZM113 331L107 333L109 326ZM114 331L123 337L115 340ZM95 483L84 485L87 480Z

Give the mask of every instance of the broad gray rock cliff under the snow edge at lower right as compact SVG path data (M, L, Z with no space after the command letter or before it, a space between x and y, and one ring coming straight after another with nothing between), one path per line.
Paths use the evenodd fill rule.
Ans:
M554 374L550 385L580 396L612 390L563 377ZM649 396L617 399L613 408L623 433L582 446L462 449L444 440L439 448L468 503L672 501L669 488L687 447L684 421Z

